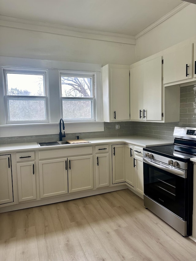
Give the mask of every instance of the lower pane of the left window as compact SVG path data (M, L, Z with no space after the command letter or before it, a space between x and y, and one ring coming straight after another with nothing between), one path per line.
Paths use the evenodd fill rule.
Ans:
M8 99L9 121L46 120L45 99Z

